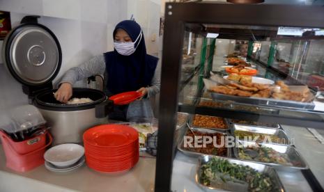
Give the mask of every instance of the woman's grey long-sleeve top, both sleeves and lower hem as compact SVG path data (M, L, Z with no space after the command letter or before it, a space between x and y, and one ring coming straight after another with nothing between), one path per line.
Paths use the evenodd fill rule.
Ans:
M77 67L72 67L70 70L65 72L59 84L71 83L73 86L75 82L80 81L84 78L91 77L95 74L102 75L105 73L105 70L106 64L104 56L94 56L86 63L83 63L82 65L79 65ZM155 69L155 74L151 81L151 85L147 87L147 98L130 103L127 111L128 121L137 121L138 119L143 118L153 118L153 110L151 109L151 104L148 98L153 97L157 93L160 93L160 74L161 62L159 61Z

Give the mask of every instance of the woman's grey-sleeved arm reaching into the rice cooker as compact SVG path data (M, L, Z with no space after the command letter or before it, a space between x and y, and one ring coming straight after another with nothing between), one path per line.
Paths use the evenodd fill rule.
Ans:
M70 83L73 85L75 82L91 77L95 74L104 74L105 69L106 65L104 56L94 56L89 61L86 61L86 63L77 67L72 67L70 70L65 72L59 85L61 85L61 83Z

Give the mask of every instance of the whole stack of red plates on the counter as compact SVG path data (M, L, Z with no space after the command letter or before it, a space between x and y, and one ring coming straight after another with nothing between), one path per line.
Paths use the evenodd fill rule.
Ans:
M139 134L127 125L99 125L84 132L88 167L101 172L129 170L139 161Z

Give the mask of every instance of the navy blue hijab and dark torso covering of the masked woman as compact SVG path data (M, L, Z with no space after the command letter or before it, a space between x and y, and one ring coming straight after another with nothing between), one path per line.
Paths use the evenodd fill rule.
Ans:
M118 23L114 37L117 29L125 30L132 42L141 33L141 26L132 20ZM146 54L144 35L137 44L136 51L130 56L118 54L116 49L104 54L108 76L107 90L111 95L151 86L158 58Z

